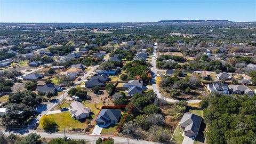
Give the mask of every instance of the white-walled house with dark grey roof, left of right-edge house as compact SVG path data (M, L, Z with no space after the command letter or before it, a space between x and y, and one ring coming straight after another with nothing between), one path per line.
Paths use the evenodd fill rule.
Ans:
M212 93L214 91L218 91L223 94L229 94L228 84L213 83L213 84L207 85L207 89L210 91L210 93Z

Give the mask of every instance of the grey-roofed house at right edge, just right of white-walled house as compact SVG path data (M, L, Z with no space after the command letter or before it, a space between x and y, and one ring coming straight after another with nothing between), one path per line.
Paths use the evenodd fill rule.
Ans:
M244 85L229 85L230 93L232 94L248 94L253 95L255 94L251 89Z

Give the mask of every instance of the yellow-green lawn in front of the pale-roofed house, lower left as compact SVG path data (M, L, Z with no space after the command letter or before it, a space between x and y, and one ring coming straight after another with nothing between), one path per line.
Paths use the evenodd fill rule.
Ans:
M63 130L63 127L65 127L66 130L71 130L72 128L85 129L88 126L85 123L86 118L82 121L78 121L70 116L69 111L59 114L52 114L50 116L54 119L55 123L58 125L58 130L60 131Z

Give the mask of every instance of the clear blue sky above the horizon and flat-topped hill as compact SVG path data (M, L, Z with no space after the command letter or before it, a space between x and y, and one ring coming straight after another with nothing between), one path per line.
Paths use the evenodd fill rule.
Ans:
M0 22L256 21L256 1L0 0Z

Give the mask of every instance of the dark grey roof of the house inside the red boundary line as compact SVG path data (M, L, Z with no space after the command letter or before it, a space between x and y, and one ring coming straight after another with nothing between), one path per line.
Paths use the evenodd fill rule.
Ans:
M121 110L119 109L101 109L96 121L118 121L121 116Z

